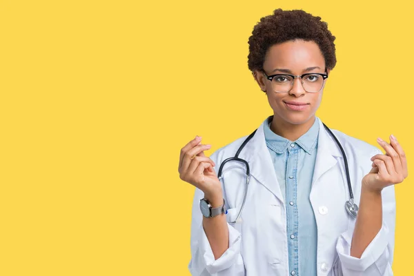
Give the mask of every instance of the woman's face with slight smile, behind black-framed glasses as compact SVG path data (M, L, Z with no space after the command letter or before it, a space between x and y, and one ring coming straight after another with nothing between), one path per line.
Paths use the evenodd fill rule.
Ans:
M319 46L313 41L286 41L270 47L263 64L266 75L325 72L325 59ZM329 73L329 70L328 70ZM272 81L263 72L255 71L255 79L262 90L266 91L268 102L275 119L288 124L305 124L315 117L322 100L322 91L306 92L300 78L295 78L289 92L278 93L273 90ZM326 80L324 81L325 85Z

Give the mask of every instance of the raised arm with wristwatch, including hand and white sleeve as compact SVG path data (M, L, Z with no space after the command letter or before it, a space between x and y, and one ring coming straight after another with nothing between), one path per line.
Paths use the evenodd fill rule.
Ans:
M180 178L196 187L188 268L192 275L241 276L244 275L244 264L240 254L240 233L227 223L226 215L206 218L199 208L203 197L213 208L223 204L221 183L213 169L217 153L208 158L203 152L209 148L201 145L201 137L196 137L181 149L180 154Z

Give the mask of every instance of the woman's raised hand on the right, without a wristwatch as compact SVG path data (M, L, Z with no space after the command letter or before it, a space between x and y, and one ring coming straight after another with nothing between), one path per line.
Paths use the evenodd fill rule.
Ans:
M393 135L391 144L381 138L378 144L384 148L386 155L374 155L372 170L362 179L362 184L368 190L380 192L386 186L401 183L408 176L407 160L402 146Z

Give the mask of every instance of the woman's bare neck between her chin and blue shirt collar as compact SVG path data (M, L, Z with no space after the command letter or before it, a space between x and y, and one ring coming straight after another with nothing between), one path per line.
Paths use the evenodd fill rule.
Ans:
M296 141L299 137L308 132L308 130L315 123L315 119L316 117L313 116L304 124L290 124L287 121L277 119L277 117L273 116L272 123L270 124L270 130L290 141Z

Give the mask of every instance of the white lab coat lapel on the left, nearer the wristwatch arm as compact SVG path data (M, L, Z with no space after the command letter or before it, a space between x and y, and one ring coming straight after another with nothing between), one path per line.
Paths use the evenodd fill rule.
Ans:
M266 120L267 121L267 120ZM257 128L255 135L246 144L246 150L242 150L240 157L248 161L250 174L273 193L280 201L284 201L277 181L275 167L270 157L264 137L264 123Z

